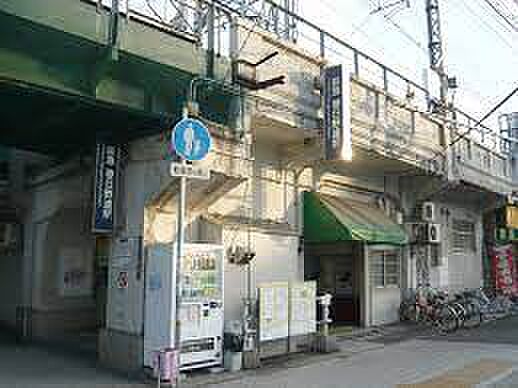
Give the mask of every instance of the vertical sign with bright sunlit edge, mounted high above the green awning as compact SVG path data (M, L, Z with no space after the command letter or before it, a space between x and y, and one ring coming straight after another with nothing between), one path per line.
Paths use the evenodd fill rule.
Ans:
M352 160L351 79L342 65L324 72L326 160Z

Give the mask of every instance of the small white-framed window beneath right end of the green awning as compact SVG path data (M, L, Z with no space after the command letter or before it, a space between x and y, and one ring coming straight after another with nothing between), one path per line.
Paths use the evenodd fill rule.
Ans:
M370 280L374 287L399 287L401 258L398 250L373 250L369 255Z

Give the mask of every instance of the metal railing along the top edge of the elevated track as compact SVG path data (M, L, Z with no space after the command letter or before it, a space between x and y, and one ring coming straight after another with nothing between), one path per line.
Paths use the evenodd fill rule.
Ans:
M85 0L82 0L85 1ZM86 0L99 6L110 7L113 0ZM259 1L258 1L259 2ZM414 105L416 110L433 115L431 102L438 98L421 84L401 72L388 67L365 52L353 47L335 34L325 31L297 13L283 8L273 0L261 0L269 8L253 12L242 12L230 0L119 0L120 12L128 19L139 19L163 28L171 33L183 34L200 46L212 50L217 56L231 57L231 25L235 17L250 20L257 28L276 34L279 39L288 40L304 49L310 55L329 63L341 63L350 69L357 79L367 82L395 98ZM272 11L273 10L273 11ZM279 23L271 23L271 13L277 15ZM266 15L269 13L269 15ZM284 21L284 22L282 22ZM290 30L291 33L286 31ZM246 37L245 37L246 40ZM239 48L238 48L239 49ZM502 139L497 131L484 125L458 108L453 108L455 120L462 128L473 128L470 137L502 153Z

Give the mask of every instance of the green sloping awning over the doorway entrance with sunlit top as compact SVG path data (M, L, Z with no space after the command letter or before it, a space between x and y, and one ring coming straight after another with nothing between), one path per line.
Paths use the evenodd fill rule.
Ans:
M304 193L304 240L308 243L364 241L404 245L405 231L373 205L330 195Z

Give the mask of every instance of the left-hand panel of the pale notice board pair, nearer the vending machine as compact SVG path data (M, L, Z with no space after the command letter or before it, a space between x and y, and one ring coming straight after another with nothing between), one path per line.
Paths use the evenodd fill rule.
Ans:
M259 340L273 341L289 335L289 283L259 286Z

